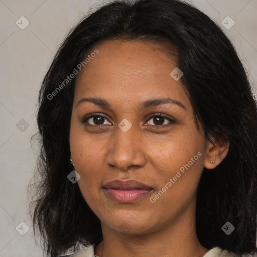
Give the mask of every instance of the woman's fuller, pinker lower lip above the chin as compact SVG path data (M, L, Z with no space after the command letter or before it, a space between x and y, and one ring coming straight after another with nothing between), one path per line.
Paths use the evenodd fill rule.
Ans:
M113 188L105 188L104 191L109 197L120 203L131 203L138 199L147 196L152 190L149 189L133 189L133 190L118 190Z

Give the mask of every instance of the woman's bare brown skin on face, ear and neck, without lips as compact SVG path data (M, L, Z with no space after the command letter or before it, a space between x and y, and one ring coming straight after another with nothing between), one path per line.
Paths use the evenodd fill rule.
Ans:
M202 128L197 130L181 80L175 81L170 75L176 61L161 45L113 40L95 48L99 53L76 79L70 126L71 158L81 176L78 185L102 225L104 240L95 254L203 256L208 249L199 243L195 228L197 185L203 167L211 172L225 158L229 143L220 142L216 147L204 137ZM87 101L78 104L84 97L104 98L111 107ZM174 103L138 108L143 101L166 97L186 109ZM82 123L94 113L106 117L101 127L93 118ZM175 123L164 118L158 125L150 119L155 113ZM127 132L118 126L123 119L132 124ZM201 157L151 203L150 197L198 152ZM119 203L102 188L115 179L138 180L153 190L133 203Z

